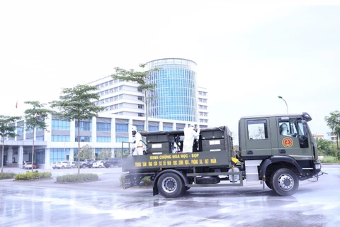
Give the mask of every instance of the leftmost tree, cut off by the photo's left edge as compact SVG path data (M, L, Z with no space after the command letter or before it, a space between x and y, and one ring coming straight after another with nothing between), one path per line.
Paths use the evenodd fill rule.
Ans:
M14 123L20 120L20 116L4 116L0 115L0 136L2 142L2 154L1 154L1 173L4 172L4 143L6 138L16 137L16 126Z

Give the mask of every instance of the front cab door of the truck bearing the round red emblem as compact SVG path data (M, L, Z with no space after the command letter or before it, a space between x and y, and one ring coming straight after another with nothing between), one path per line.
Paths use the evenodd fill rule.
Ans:
M273 155L289 155L295 160L313 160L312 146L304 120L276 118L278 126L278 150Z

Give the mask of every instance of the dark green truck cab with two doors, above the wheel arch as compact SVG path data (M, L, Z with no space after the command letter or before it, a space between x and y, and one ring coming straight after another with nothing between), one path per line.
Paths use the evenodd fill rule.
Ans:
M244 160L288 155L297 161L317 160L317 143L307 114L242 117L239 120L239 150Z

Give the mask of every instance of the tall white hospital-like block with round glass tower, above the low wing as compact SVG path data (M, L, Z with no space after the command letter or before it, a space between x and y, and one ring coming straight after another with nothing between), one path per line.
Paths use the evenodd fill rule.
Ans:
M156 84L147 96L151 118L190 121L208 126L208 91L197 85L196 62L182 58L165 58L147 62L147 70L158 68L149 77ZM124 116L145 116L145 96L135 82L103 77L89 85L98 88L101 99L96 105L105 106L104 113Z

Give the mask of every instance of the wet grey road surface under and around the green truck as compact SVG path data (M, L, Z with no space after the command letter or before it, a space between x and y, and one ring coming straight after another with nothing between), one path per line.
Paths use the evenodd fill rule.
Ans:
M340 226L340 165L322 170L328 175L300 182L293 196L251 183L192 188L176 199L152 196L151 188L123 190L118 167L81 169L101 180L79 184L55 183L77 170L49 170L53 179L0 180L0 226Z

